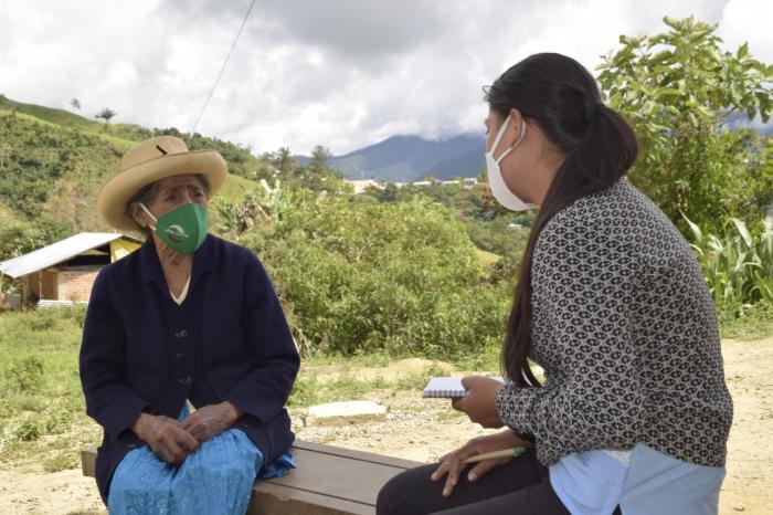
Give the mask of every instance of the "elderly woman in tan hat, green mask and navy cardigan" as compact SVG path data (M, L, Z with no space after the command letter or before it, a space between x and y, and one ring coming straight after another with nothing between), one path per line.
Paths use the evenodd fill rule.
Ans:
M294 466L299 358L282 307L252 252L207 233L225 176L216 151L163 136L99 192L107 223L148 234L97 276L81 348L110 513L244 513L256 477Z

